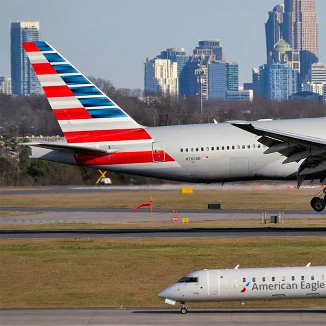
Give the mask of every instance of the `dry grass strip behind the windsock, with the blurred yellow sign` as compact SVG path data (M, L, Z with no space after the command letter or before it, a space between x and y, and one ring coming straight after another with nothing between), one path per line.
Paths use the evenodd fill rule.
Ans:
M315 194L307 190L196 190L193 194L178 191L116 191L78 194L2 195L7 207L79 207L131 208L153 195L154 208L207 208L207 203L221 203L222 209L311 209Z

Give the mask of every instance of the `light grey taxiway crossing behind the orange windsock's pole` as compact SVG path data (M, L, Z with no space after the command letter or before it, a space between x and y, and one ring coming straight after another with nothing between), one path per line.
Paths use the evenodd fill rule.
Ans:
M31 215L2 216L0 224L20 223L103 223L103 222L141 222L149 221L149 210L133 211L131 208L41 208L41 207L2 207L2 211L31 212ZM179 218L189 217L190 221L198 220L234 220L260 219L261 213L278 215L279 210L208 210L208 209L179 209ZM285 219L293 218L325 218L326 211L283 210ZM36 214L40 213L40 214ZM154 209L154 221L172 221L175 213L171 209Z

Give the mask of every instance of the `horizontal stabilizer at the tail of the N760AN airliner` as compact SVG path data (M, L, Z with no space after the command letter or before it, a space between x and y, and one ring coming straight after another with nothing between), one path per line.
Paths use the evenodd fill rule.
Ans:
M89 152L96 152L96 153L105 153L105 154L112 154L118 152L119 148L90 148L86 146L78 146L78 145L68 145L65 143L57 143L53 141L42 141L42 142L34 142L29 141L25 143L20 143L19 145L24 146L35 146L41 147L46 149L55 149L55 150L63 150L63 151L74 151L78 153L89 153Z

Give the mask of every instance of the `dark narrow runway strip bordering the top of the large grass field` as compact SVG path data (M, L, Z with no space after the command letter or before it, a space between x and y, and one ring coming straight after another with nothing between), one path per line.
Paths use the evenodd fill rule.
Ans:
M1 239L326 236L326 228L0 230Z

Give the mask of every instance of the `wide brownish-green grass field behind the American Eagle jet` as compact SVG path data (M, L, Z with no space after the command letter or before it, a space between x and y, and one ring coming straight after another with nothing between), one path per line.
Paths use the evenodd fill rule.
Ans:
M156 294L190 271L325 265L325 247L324 237L1 240L0 305L160 306ZM324 306L326 300L247 302L257 305Z

